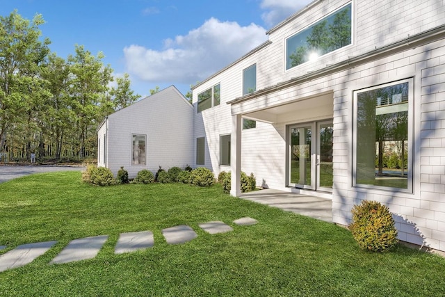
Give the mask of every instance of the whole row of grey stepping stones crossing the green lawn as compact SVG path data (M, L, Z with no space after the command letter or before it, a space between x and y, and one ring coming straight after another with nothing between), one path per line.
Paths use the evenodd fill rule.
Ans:
M234 220L236 225L254 225L257 220L245 217ZM218 234L233 231L233 228L219 220L201 223L200 228L209 234ZM162 234L168 244L186 243L197 237L193 228L187 225L179 225L165 228ZM102 246L108 239L108 235L92 236L83 239L74 239L49 262L49 264L64 264L92 259L97 256ZM47 252L57 241L29 243L10 250L0 255L0 273L8 269L17 268L33 262L33 260ZM115 254L134 252L154 246L154 237L151 231L122 233L115 246ZM0 246L0 250L6 246Z

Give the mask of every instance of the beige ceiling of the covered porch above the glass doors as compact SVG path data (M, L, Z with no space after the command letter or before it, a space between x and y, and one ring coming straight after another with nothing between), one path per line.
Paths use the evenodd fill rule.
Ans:
M269 124L287 122L298 118L300 120L312 118L332 118L334 109L334 97L332 92L302 97L286 102L275 104L266 108L243 113L243 118L266 122Z

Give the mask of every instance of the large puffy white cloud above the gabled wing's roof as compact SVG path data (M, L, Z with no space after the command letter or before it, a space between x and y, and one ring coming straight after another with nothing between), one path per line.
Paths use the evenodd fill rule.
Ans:
M236 61L267 40L266 29L211 18L200 28L164 40L156 51L140 45L124 48L127 72L151 83L196 83Z

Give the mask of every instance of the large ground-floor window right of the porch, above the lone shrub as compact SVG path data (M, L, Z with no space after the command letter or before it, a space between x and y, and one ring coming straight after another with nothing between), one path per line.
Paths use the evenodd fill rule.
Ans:
M359 90L355 106L355 185L411 190L412 79Z

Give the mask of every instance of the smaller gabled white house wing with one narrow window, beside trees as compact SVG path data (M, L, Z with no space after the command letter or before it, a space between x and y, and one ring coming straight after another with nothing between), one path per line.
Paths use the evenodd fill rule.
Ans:
M136 177L142 169L185 167L193 158L193 106L175 86L121 109L97 130L98 166L121 166Z

